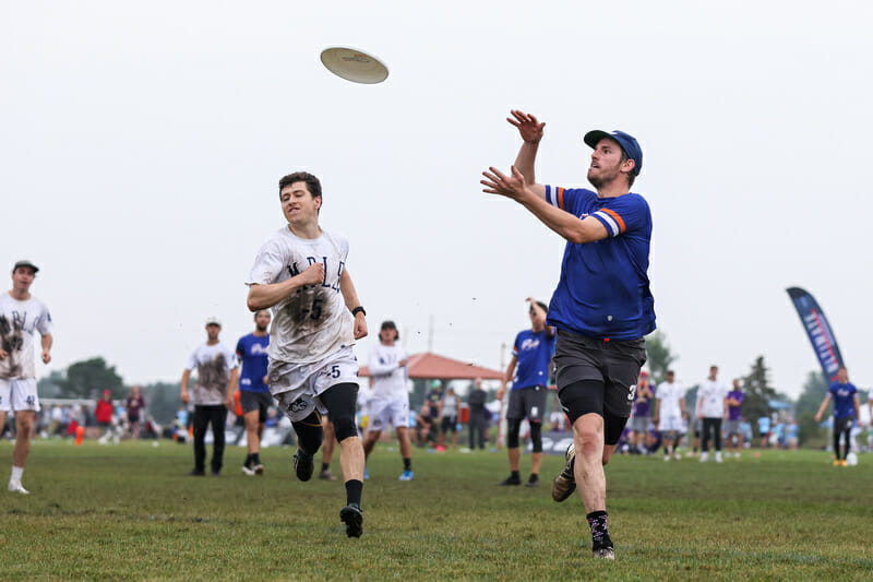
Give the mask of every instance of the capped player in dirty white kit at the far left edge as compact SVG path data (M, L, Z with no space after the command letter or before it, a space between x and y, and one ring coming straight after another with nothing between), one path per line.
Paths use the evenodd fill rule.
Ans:
M31 295L39 268L19 261L12 268L12 289L0 296L0 428L7 413L15 413L15 448L9 490L27 495L21 479L31 452L34 420L39 412L34 365L34 332L41 337L43 364L51 361L51 316L48 308ZM0 430L1 431L1 430Z

